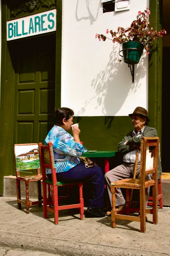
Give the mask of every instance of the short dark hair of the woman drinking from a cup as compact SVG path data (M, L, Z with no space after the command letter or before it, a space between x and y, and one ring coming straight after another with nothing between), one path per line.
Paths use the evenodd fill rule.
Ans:
M55 111L54 123L56 125L63 125L63 118L65 118L68 121L71 116L74 116L74 111L72 109L70 109L70 108L58 108Z

